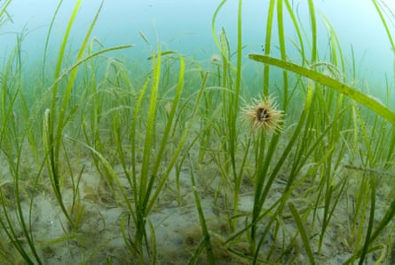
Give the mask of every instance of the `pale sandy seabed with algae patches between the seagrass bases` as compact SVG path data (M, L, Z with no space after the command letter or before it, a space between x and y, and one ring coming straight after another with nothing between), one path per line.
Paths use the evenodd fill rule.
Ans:
M107 264L110 261L112 264L136 264L138 259L130 253L122 238L122 219L124 221L128 220L127 208L122 203L122 197L114 195L107 181L96 170L93 161L87 157L89 156L71 158L75 174L81 172L83 168L78 190L81 198L80 209L83 209L83 211L80 217L80 226L76 232L71 232L71 228L53 195L51 182L47 174L43 173L38 184L35 184L34 181L28 179L28 176L32 175L28 172L33 172L33 169L25 169L27 176L20 181L19 185L21 206L24 220L27 223L28 215L31 213L31 230L29 231L34 237L40 258L44 264L77 264L84 262ZM11 202L16 199L13 192L15 185L9 179L11 173L5 163L6 159L2 159L2 161L0 188L3 192L4 203L10 202L10 205L12 205ZM123 173L122 165L115 165L114 170L122 183L122 187L132 200L132 191ZM335 213L328 224L320 254L317 254L316 249L313 249L316 254L315 259L319 264L344 263L354 251L356 238L350 234L350 225L352 221L351 209L354 204L356 189L359 188L357 173L355 170L346 167L336 173L340 179L346 176L349 179L345 187L346 191L341 195ZM232 192L227 191L229 188L226 183L227 180L221 180L220 175L215 165L195 166L196 188L201 198L204 217L208 223L213 252L218 264L249 264L248 260L234 255L223 244L226 238L232 235L225 202L227 201L228 205L232 205L229 202L233 202L233 195ZM62 196L68 209L72 204L73 197L73 185L70 180L71 178L67 178L67 173L64 173L61 183ZM178 183L179 196L176 183L176 173L173 171L170 173L153 211L148 215L148 220L152 223L155 231L157 263L159 264L186 264L193 257L202 240L199 214L192 189L191 168L186 166L181 168ZM273 183L264 205L265 209L278 201L286 183L286 174L280 174L279 178ZM289 201L296 205L298 211L314 205L312 187L312 183L306 181L289 198ZM377 220L381 220L388 206L386 202L391 187L383 185L378 189L377 194L379 196L377 197L375 217ZM33 201L30 199L32 194L35 195ZM253 201L254 187L252 181L246 176L241 184L239 213L251 213ZM32 206L30 207L31 202ZM322 216L322 208L321 206L317 208L316 216ZM26 240L22 237L20 221L17 220L17 210L14 206L8 205L6 205L6 209L11 219L15 219L13 223L15 223L17 233L20 233L20 240ZM233 209L230 209L230 211L232 212ZM1 212L4 212L4 209ZM272 263L280 256L282 256L280 261L284 264L309 263L303 242L300 236L297 236L296 223L287 207L281 216L282 220L278 222L280 229L277 232L274 231L275 226L273 225L267 238L265 238L261 250L263 257L272 253ZM311 245L317 247L322 221L320 221L320 218L312 221L311 216L312 213L309 214L304 225L310 233ZM260 222L258 232L262 233L268 220L269 217ZM128 225L127 221L125 223ZM242 229L244 225L245 217L239 218L236 231ZM134 236L133 224L130 223L128 228L130 239L132 239ZM149 235L148 227L147 231ZM274 237L274 233L276 233L276 237ZM19 254L13 249L10 240L6 237L4 229L2 229L2 237L3 245L8 245L10 252L13 253L10 261L23 263ZM248 253L249 244L245 237L245 234L237 237L236 243L232 244L232 248L240 253ZM376 255L370 255L367 263L374 264L379 259L380 254L380 252L377 252ZM392 257L391 261L393 261ZM198 264L206 263L204 251L197 262Z

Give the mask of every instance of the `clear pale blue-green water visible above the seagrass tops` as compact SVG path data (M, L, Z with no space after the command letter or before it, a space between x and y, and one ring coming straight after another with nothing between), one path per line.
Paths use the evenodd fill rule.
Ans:
M162 44L164 51L177 51L194 57L196 60L209 60L217 53L211 30L211 18L215 12L218 0L150 0L104 1L99 20L92 36L99 40L103 47L121 44L135 44L135 48L122 54L130 56L131 60L143 61L150 55L151 48L139 36L143 33L152 46ZM379 1L395 10L395 2ZM49 43L49 58L56 58L62 36L65 35L67 21L76 1L64 1L55 20ZM82 1L77 13L75 24L71 31L71 50L78 50L79 44L88 30L94 14L98 11L101 1ZM249 52L262 52L265 42L265 22L269 1L249 0L242 3L242 40L246 45L243 59L247 61ZM310 21L307 15L307 1L290 1L292 9L297 11L303 21L305 36L310 37ZM374 5L367 0L331 0L314 1L317 9L318 40L321 60L329 60L329 40L322 17L328 19L336 30L336 35L342 45L346 68L352 68L351 47L357 65L357 80L354 84L363 90L369 90L376 97L383 98L385 92L385 73L389 74L389 84L393 86L393 55L391 44L386 36L383 24L375 12ZM58 1L20 0L13 1L7 11L12 21L2 27L0 35L0 60L12 51L16 36L22 32L25 37L22 50L27 65L35 65L43 58L43 44L48 32L51 18L56 10ZM218 13L216 32L225 28L231 49L236 49L238 1L229 0ZM289 38L296 40L295 30L291 27L286 7L284 6L285 32ZM388 14L391 15L390 12ZM274 17L276 21L277 18ZM392 19L393 21L393 19ZM390 24L390 29L394 27ZM279 56L277 32L273 32L272 54ZM291 42L287 41L288 58L300 61ZM309 47L306 47L308 50ZM345 73L350 76L350 73ZM247 73L249 75L249 73ZM368 79L367 79L368 77ZM367 85L368 84L368 85ZM368 88L367 88L368 86Z

